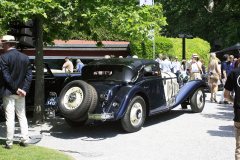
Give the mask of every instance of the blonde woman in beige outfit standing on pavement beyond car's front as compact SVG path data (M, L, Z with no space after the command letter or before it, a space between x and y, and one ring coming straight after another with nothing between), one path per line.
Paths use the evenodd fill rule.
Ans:
M221 72L218 67L218 61L216 60L215 53L210 54L207 72L208 72L208 85L212 85L210 100L217 102L216 95L217 95L218 84L219 84L218 80L219 80L219 78L221 78ZM209 73L211 73L211 75L214 75L215 78L210 79L211 75ZM213 98L213 92L214 92L214 98Z

